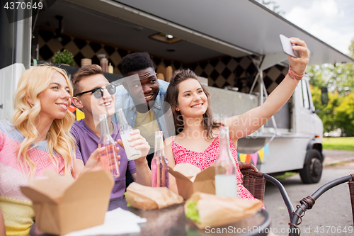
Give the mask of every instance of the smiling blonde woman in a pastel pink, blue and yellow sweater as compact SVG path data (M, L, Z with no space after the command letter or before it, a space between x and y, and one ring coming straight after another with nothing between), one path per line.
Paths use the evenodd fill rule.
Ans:
M45 169L74 178L79 174L75 162L81 160L74 161L69 133L74 115L67 111L72 93L64 70L28 69L18 82L11 121L0 120L0 208L7 236L29 235L33 225L32 204L19 186L42 178ZM84 170L100 168L98 154L98 149L91 154Z

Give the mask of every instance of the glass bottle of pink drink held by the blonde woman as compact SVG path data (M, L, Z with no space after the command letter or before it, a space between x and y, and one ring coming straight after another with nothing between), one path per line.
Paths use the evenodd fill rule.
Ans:
M98 141L98 147L105 147L105 154L100 156L101 167L110 171L114 178L119 177L119 168L117 154L115 153L115 142L110 135L108 120L105 114L100 115L101 137Z

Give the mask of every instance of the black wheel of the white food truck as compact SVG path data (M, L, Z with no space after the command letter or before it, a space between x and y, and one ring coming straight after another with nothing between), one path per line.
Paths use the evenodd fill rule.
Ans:
M299 174L304 184L316 184L321 179L322 161L319 150L312 149L309 153L309 159L304 164L304 168L300 169Z

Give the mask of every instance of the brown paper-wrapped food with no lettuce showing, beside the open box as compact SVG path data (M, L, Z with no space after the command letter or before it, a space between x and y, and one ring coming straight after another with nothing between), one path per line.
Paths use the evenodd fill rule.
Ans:
M125 200L132 207L142 210L161 209L183 202L181 196L166 187L152 188L134 182L127 187Z

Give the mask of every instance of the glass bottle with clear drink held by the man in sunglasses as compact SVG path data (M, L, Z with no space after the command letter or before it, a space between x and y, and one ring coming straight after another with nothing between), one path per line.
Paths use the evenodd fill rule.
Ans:
M130 142L128 142L128 138L132 135L130 135L130 132L133 130L132 126L130 126L127 123L127 119L125 119L125 115L123 113L123 110L120 108L118 109L118 118L120 122L120 137L122 138L123 145L124 145L124 150L125 153L127 154L127 159L133 160L133 159L138 159L139 157L142 157L142 151L135 149L135 147L130 147Z

